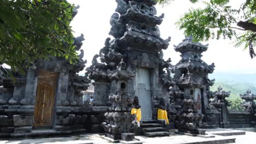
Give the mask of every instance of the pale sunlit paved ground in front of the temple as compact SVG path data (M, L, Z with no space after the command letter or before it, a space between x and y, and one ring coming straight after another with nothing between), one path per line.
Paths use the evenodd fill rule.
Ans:
M256 133L251 131L246 131L246 135L235 135L235 136L218 136L215 135L214 138L203 138L203 137L192 137L192 136L186 136L186 135L171 135L171 136L165 136L165 137L145 137L145 136L136 136L137 139L139 139L143 143L172 143L172 144L178 144L178 143L207 143L206 141L212 141L212 140L222 140L222 139L236 139L236 143L239 144L246 144L246 143L256 143ZM25 143L51 143L51 144L57 144L57 143L95 143L95 144L102 144L102 143L109 143L106 140L103 140L99 134L85 134L85 135L78 135L78 136L69 136L69 137L54 137L54 138L48 138L48 139L27 139L27 140L2 140L0 141L0 144L25 144Z

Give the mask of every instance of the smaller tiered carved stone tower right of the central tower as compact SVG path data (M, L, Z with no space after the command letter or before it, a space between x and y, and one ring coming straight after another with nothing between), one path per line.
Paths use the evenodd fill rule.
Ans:
M186 37L174 50L181 52L182 59L173 68L174 79L178 91L183 91L183 98L174 98L178 108L176 127L181 132L198 134L203 113L209 106L207 93L214 80L208 79L213 73L214 63L206 64L201 60L201 53L208 49L207 45L193 43L192 37ZM181 103L181 99L183 99Z

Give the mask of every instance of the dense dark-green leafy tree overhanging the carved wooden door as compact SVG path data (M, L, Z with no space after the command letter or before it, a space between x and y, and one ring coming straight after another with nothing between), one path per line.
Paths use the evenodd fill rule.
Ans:
M37 59L50 56L77 61L69 23L74 5L66 0L1 0L0 1L0 77L11 70L33 67Z

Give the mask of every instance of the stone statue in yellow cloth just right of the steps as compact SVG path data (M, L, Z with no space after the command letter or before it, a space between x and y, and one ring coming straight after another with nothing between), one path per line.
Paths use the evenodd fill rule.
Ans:
M165 107L165 100L163 98L160 99L160 103L158 105L158 120L165 121L165 124L169 124Z

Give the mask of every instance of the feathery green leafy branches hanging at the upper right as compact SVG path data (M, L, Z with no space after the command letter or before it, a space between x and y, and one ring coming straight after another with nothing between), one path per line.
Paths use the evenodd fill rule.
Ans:
M173 0L155 0L166 4ZM190 0L197 2L198 0ZM239 8L232 8L229 0L210 0L203 9L189 9L176 22L185 35L193 35L195 41L210 38L235 39L235 46L249 48L251 58L255 57L256 45L256 1L245 0Z

